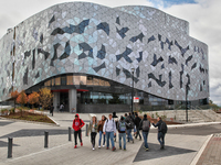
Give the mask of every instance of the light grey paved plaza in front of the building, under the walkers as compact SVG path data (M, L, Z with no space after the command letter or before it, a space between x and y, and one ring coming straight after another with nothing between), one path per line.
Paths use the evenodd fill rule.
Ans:
M98 119L101 116L97 114ZM88 123L88 114L80 117ZM157 130L151 128L148 135L148 152L145 152L143 141L139 140L127 143L127 151L119 150L117 140L115 143L117 150L112 152L105 147L97 147L98 136L96 136L96 150L93 151L91 138L85 135L86 127L82 133L84 145L74 148L73 134L70 142L67 131L67 128L72 127L74 114L55 113L52 119L60 127L0 119L0 165L221 164L220 123L171 125L166 134L165 150L159 150ZM44 131L49 132L48 148L44 148ZM7 158L9 136L13 138L12 158Z

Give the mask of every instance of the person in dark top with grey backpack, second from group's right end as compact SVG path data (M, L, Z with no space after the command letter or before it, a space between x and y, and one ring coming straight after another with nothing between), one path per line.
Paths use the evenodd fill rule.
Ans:
M147 138L148 138L148 134L149 134L150 122L147 119L147 114L144 114L144 119L141 120L141 122L139 124L139 128L143 131L143 138L144 138L144 142L145 142L145 150L148 151L149 146L148 146L148 143L147 143Z

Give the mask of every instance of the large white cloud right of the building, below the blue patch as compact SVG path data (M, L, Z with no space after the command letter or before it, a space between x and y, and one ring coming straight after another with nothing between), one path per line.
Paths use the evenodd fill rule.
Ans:
M190 36L209 46L210 99L221 102L221 1L196 0L196 4L172 6L165 12L189 22Z

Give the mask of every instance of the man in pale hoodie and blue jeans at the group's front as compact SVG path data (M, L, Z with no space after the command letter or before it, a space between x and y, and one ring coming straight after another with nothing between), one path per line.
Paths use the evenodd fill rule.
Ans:
M116 147L114 145L114 135L116 135L116 124L112 114L109 114L109 119L107 119L104 123L103 133L106 135L107 140L107 150L109 148L109 139L112 143L112 151L115 151Z

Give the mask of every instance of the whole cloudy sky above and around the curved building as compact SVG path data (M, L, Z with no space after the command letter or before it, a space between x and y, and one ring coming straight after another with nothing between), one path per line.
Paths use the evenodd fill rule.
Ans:
M0 0L0 38L7 30L70 0ZM78 0L80 1L80 0ZM81 0L110 8L148 6L189 22L190 36L209 46L210 99L221 106L221 0Z

